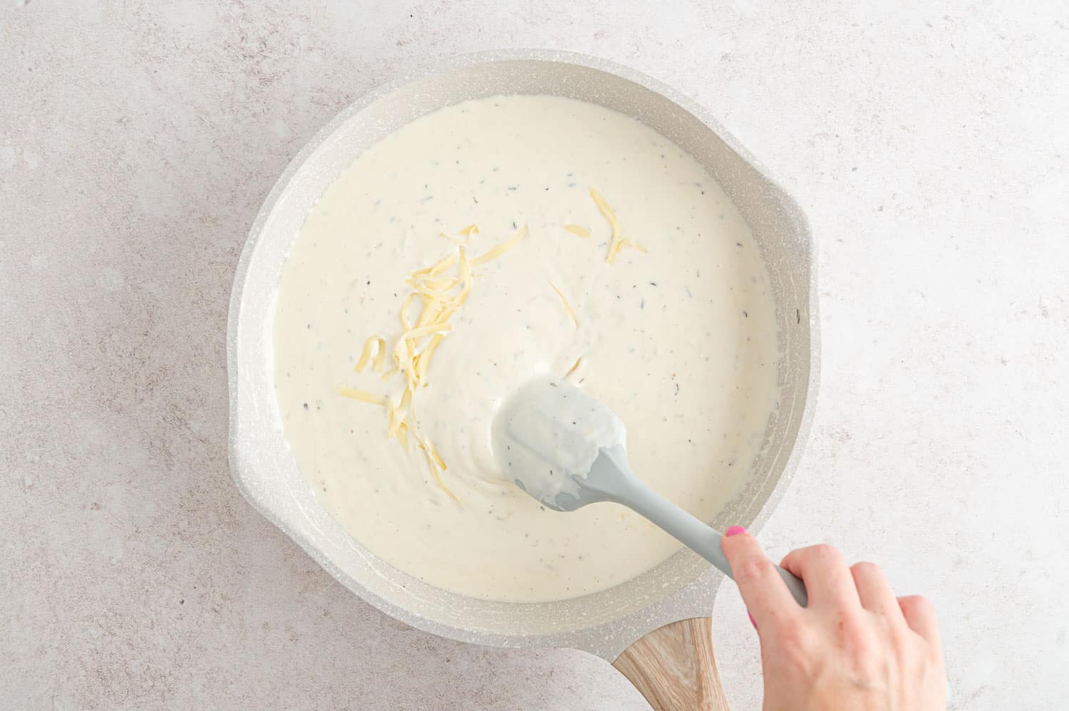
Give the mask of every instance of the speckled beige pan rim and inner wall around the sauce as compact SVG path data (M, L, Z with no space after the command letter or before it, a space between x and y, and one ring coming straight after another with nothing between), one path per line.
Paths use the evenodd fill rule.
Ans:
M816 398L816 274L805 216L715 120L668 87L602 60L538 50L460 57L434 73L372 91L325 126L282 173L252 225L234 278L227 353L231 470L261 513L386 614L463 642L574 647L611 661L651 630L708 616L723 576L681 551L628 583L560 602L490 602L431 587L376 558L330 517L297 470L275 401L275 291L312 204L363 149L413 119L469 98L512 93L569 96L635 117L706 166L749 221L776 303L780 407L748 483L710 523L756 529L776 505Z

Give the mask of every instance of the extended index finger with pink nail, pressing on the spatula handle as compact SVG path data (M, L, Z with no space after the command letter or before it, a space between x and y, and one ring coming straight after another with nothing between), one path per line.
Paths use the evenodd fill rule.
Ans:
M724 555L731 565L731 576L739 586L743 602L758 629L769 629L801 614L787 584L775 563L765 557L761 546L745 530L729 528L721 540Z

